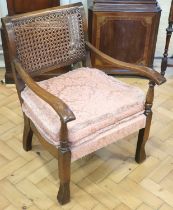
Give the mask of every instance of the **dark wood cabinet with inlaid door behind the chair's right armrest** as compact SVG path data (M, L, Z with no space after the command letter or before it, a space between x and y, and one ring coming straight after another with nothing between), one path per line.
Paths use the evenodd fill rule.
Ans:
M152 67L161 9L155 0L95 0L89 39L113 58ZM98 68L112 68L92 56Z

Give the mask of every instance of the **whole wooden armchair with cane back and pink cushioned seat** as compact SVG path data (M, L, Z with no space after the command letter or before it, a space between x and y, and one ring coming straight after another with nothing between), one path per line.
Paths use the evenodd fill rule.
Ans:
M71 161L138 130L135 160L145 160L154 86L165 82L163 76L153 69L115 60L91 45L81 3L3 18L2 24L24 115L23 147L32 149L34 133L58 158L60 204L70 200ZM91 68L91 52L149 79L146 99L137 87ZM44 72L66 65L74 68L76 63L83 67L35 81Z

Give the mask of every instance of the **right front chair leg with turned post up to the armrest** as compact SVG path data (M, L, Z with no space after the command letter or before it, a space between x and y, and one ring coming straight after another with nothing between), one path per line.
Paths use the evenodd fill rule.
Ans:
M142 128L139 131L138 142L137 142L137 147L136 147L135 160L137 163L142 163L146 159L145 144L149 137L152 114L153 114L151 108L152 108L153 99L154 99L154 86L155 86L155 83L150 81L149 89L148 89L148 93L146 97L145 113L144 113L146 115L146 126L145 128Z

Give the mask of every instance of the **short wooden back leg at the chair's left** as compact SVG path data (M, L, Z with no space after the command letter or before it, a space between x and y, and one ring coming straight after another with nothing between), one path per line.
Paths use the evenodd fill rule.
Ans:
M23 149L25 151L30 151L32 149L32 136L33 131L30 127L30 120L24 114Z

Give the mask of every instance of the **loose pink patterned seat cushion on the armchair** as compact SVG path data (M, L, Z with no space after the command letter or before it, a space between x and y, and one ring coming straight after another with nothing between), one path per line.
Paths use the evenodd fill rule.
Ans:
M142 90L97 69L79 68L38 84L61 98L75 114L76 120L68 123L72 146L89 141L144 111ZM21 96L25 114L47 141L58 146L60 120L56 112L28 87Z

